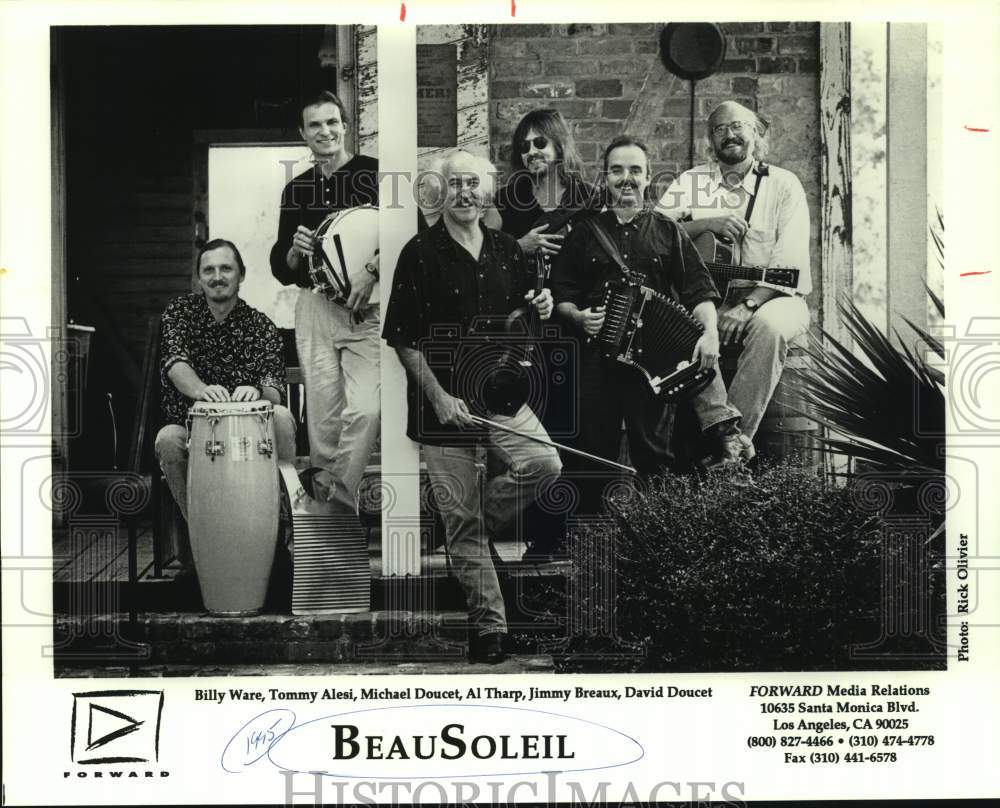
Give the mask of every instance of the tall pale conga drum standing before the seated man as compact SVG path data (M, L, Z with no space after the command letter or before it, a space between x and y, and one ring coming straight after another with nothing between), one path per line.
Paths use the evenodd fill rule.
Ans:
M188 528L205 608L256 614L278 534L270 402L196 401L188 412Z

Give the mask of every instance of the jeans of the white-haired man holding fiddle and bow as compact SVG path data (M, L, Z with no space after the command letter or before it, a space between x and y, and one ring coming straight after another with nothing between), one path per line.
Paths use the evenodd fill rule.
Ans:
M547 438L529 407L497 423ZM445 525L452 573L465 592L469 622L480 634L506 632L503 593L490 553L490 537L508 538L518 514L537 499L562 471L559 454L499 429L490 429L488 451L504 467L480 492L475 446L425 444L424 460L431 490Z

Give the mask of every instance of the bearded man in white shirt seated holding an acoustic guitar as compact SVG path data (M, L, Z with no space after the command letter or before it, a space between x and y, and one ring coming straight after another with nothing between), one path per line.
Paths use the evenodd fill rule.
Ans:
M729 403L742 413L741 429L751 440L781 379L789 344L809 328L805 298L812 290L805 191L791 171L764 162L766 134L752 110L735 101L719 104L708 117L710 162L681 174L657 204L700 245L705 234L731 245L735 264L799 270L794 290L731 281L719 312L723 347L742 345ZM748 444L747 459L753 453Z

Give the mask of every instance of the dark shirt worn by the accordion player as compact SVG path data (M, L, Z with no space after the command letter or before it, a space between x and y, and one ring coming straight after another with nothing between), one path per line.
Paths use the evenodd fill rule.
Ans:
M622 224L614 211L606 210L594 222L604 225L625 265L645 275L643 285L680 301L689 311L706 300L720 299L694 243L673 219L646 209ZM620 277L621 270L592 227L577 227L556 256L552 297L557 305L569 302L579 309L600 305L604 283Z

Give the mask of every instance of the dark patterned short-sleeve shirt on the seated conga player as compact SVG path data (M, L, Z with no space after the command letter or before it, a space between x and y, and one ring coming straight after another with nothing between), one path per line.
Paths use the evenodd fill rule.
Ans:
M165 423L183 424L191 399L167 376L185 362L205 384L233 392L241 385L273 387L285 403L285 363L281 335L265 314L237 300L221 323L205 296L176 297L163 312L160 325L160 388Z

